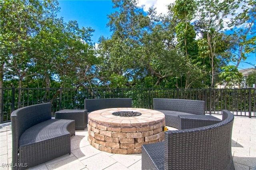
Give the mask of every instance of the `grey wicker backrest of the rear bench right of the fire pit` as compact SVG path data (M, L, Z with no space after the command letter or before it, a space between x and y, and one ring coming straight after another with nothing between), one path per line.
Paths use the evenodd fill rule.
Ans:
M154 110L180 111L195 115L205 114L205 102L200 100L154 98L153 106Z

